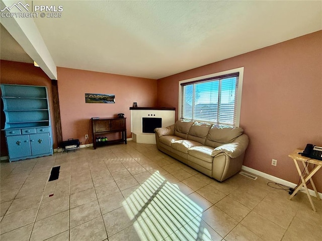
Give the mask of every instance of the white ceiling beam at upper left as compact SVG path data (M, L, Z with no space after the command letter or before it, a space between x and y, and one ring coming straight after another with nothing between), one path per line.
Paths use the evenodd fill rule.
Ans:
M10 8L15 3L8 0L0 0L0 2L2 10L5 7ZM25 1L20 2L26 5ZM10 13L14 12L19 13L19 10L12 8ZM33 18L1 17L1 23L48 77L57 79L57 67Z

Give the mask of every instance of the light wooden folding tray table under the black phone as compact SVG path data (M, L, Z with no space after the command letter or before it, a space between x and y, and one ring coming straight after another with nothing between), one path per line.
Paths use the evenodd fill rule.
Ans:
M309 158L309 157L302 156L302 155L298 154L299 152L302 152L302 151L303 150L296 149L296 150L294 150L293 153L288 155L289 157L291 157L294 160L296 170L297 170L297 172L298 172L298 174L300 176L301 182L302 182L301 184L299 184L299 185L297 185L295 187L294 192L292 193L292 195L288 199L291 200L291 198L295 196L295 194L300 190L300 188L304 187L304 189L306 191L306 194L307 194L307 197L308 197L308 200L311 203L312 209L316 212L316 209L315 209L315 207L313 205L310 193L308 192L306 183L308 181L310 181L310 183L311 183L311 185L313 187L313 190L315 192L316 198L318 200L320 200L318 192L316 191L315 185L313 183L312 176L322 167L322 160L317 160L317 159ZM302 172L300 170L297 161L302 162L303 167L305 169L305 173L304 173L304 171ZM307 166L306 166L307 163L310 163L310 164L314 165L314 168L310 172L307 169Z

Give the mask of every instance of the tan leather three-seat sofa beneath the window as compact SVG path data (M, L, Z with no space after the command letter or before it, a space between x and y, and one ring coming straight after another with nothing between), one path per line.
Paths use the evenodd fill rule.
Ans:
M194 121L154 132L160 151L220 182L240 171L249 143L243 128Z

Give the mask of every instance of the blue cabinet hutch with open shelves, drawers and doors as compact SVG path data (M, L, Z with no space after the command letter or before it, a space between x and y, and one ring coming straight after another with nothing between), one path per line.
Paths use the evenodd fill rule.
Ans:
M10 162L52 155L52 134L47 88L1 85L5 134Z

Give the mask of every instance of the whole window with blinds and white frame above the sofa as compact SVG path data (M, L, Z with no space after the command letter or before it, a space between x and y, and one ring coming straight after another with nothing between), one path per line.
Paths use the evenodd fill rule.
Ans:
M181 119L239 126L244 67L179 82Z

